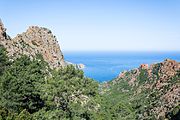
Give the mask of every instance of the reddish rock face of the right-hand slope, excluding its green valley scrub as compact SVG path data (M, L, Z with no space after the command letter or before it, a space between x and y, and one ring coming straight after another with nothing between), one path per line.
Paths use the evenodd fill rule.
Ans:
M165 119L179 105L180 62L166 59L149 67L143 64L138 69L121 73L114 80L114 84L120 84L122 81L131 86L134 96L146 94L150 104L153 103L141 119L148 117L146 113L154 115L156 119Z

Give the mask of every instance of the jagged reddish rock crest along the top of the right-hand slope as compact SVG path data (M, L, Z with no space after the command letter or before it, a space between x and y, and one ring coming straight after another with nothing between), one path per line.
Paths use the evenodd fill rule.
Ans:
M137 69L120 73L117 79L126 79L128 81L135 82L135 80L138 80L142 71L145 73L144 75L148 78L148 80L153 81L154 79L158 79L157 83L161 83L162 81L168 81L180 72L180 63L174 60L166 59L164 62L152 64L150 67L148 67L148 64L141 64ZM128 76L125 75L126 73ZM158 85L156 87L159 88Z

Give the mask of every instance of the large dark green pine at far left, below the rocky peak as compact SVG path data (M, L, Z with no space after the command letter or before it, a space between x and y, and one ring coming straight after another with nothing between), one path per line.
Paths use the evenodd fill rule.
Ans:
M1 76L1 106L20 112L33 113L43 107L38 85L43 83L45 66L40 60L22 56Z

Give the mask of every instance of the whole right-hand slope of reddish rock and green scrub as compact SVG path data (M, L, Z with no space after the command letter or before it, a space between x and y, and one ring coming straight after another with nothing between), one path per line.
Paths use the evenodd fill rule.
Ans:
M124 71L116 79L103 84L102 94L115 96L113 104L117 101L129 105L131 112L127 114L134 112L136 119L179 119L180 62L166 59Z

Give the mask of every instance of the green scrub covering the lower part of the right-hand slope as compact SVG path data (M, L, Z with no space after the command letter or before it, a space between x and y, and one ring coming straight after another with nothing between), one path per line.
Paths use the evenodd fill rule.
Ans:
M173 95L172 89L178 86L180 83L180 72L168 80L168 84L156 88L157 76L160 74L153 74L152 81L147 76L146 70L140 70L140 73L135 76L136 82L134 85L129 85L129 80L132 78L134 71L129 71L123 78L117 78L113 81L102 85L102 93L106 98L108 109L111 113L111 119L115 120L179 120L180 119L180 107L177 98L171 98ZM156 79L155 79L156 76ZM152 88L146 88L146 85L152 85ZM168 92L172 92L169 95L169 102L163 100ZM166 98L167 99L167 98ZM175 100L175 101L176 101ZM106 104L107 105L107 104ZM155 110L166 111L164 115L160 116L160 112ZM160 117L159 117L160 116ZM159 118L158 118L159 117Z

